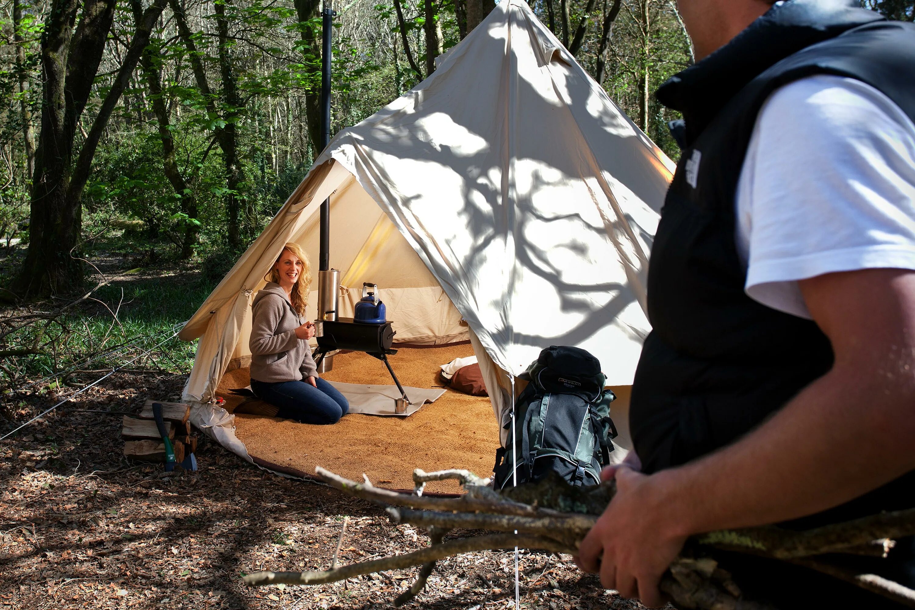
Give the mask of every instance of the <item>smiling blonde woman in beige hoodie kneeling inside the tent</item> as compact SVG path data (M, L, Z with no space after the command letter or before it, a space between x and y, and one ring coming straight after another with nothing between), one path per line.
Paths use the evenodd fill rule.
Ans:
M315 325L305 319L311 285L308 257L287 243L270 269L268 284L253 302L251 389L279 409L279 416L303 423L337 423L349 403L318 379L308 339Z

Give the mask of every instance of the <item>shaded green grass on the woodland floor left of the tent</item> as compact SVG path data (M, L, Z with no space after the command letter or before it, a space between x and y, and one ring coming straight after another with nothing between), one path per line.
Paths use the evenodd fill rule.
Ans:
M0 282L25 252L25 245L0 251ZM92 262L85 290L100 281L98 273L116 279L59 316L16 319L58 311L66 299L7 308L0 315L0 335L7 333L0 337L0 392L83 386L131 359L126 369L188 373L196 341L173 337L156 346L193 316L240 253L201 247L196 261L177 261L156 239L109 235L85 243L83 255Z

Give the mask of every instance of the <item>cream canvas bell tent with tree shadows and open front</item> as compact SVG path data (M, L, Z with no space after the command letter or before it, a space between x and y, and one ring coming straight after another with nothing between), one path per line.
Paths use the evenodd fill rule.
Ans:
M528 5L502 0L428 79L318 157L181 331L200 339L184 398L211 401L226 371L250 361L253 295L285 242L307 251L317 290L328 197L339 315L351 316L371 282L395 341L469 338L498 417L510 396L499 388L550 345L585 348L609 384L629 384L649 331L645 273L672 175ZM316 304L313 292L312 318ZM195 419L242 453L227 413L210 406Z

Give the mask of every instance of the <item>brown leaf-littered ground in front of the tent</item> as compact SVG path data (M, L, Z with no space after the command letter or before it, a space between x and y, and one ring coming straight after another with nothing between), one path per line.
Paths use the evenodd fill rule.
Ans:
M424 530L395 526L381 508L265 472L207 441L197 474L124 460L121 416L94 411L139 412L146 396L177 400L184 379L114 375L0 442L0 610L393 607L415 570L313 587L255 589L241 577L327 569L344 517L340 563L414 551L428 544ZM5 413L24 422L56 398L5 397ZM522 551L520 569L522 608L641 607L603 590L568 556ZM513 571L511 552L444 560L406 607L513 607Z

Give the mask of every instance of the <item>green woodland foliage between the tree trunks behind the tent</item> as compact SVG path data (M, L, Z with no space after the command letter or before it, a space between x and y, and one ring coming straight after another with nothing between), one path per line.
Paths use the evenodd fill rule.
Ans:
M148 4L149 0L143 0ZM161 75L161 99L167 107L168 132L187 191L176 192L167 180L164 148L152 112L154 95L145 73L137 70L108 125L93 162L91 180L83 195L83 236L86 248L106 240L155 243L163 257L178 255L187 234L194 234L196 256L203 260L208 281L221 278L219 258L227 256L227 201L242 208L242 246L252 241L295 190L320 153L317 139L317 97L320 91L321 17L316 8L298 21L291 0L216 0L228 28L228 65L221 65L218 15L212 3L183 3L188 27L202 62L210 94L204 95L192 70L190 51L178 36L175 17L167 8L156 25L150 57ZM299 0L307 2L307 0ZM458 44L457 11L463 0L437 0L436 24L442 46ZM531 6L548 23L547 0ZM560 3L552 0L557 37L562 38ZM34 4L33 4L34 3ZM410 69L393 0L345 0L336 3L334 22L333 107L331 132L358 123L409 90L419 81ZM864 5L891 18L915 19L913 0L863 0ZM44 4L22 0L19 32L25 39L25 60L16 67L15 45L0 46L0 245L23 232L29 208L30 177L23 145L25 99L36 132L40 126L40 48ZM425 10L420 0L401 0L410 50L425 71ZM587 30L576 59L593 73L597 70L600 32L613 0L595 0L586 14L587 0L569 0L571 40L578 24ZM318 7L318 5L314 5ZM0 16L0 30L13 40L12 12ZM88 131L102 96L133 36L134 16L121 3L109 45L102 58L93 96L79 128ZM669 0L622 0L606 57L603 86L668 155L679 155L667 123L679 118L663 108L653 91L689 63L690 46L684 27ZM228 70L228 71L227 71ZM227 93L230 81L237 95ZM19 91L20 76L27 91ZM648 93L646 103L646 91ZM218 138L232 129L244 180L229 186ZM36 134L37 135L37 134ZM82 136L77 135L77 148ZM191 196L182 198L182 196ZM188 209L188 201L196 212ZM208 258L209 256L209 258Z

